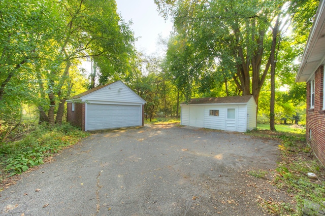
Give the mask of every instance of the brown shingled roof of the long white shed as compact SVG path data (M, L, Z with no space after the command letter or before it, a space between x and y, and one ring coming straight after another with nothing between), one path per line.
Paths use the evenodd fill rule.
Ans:
M204 104L204 103L247 103L252 95L233 96L233 97L204 97L192 98L189 102L182 102L182 104Z

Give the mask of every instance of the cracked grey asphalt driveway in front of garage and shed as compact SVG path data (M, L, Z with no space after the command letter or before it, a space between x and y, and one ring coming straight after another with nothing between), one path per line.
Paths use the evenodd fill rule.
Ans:
M145 125L92 134L0 192L1 215L267 215L278 143Z

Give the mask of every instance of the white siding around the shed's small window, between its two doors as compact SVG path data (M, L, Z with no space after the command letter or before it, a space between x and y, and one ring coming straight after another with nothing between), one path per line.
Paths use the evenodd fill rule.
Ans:
M210 116L210 110L218 110L219 116ZM212 105L205 106L204 110L204 126L206 128L224 130L225 109L224 107Z

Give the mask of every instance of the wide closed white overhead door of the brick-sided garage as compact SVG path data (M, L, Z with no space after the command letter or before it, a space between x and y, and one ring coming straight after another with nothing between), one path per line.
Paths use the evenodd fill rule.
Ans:
M86 130L142 125L141 106L87 104Z

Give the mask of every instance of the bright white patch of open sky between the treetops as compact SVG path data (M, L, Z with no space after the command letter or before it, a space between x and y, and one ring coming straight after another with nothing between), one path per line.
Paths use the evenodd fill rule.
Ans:
M161 52L159 34L168 38L173 23L159 15L153 0L116 0L116 4L122 19L133 22L131 28L138 38L136 49L146 54Z

